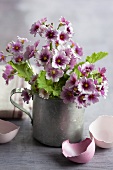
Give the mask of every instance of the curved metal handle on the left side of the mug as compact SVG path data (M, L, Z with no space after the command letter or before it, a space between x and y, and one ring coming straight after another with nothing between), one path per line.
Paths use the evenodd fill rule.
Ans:
M32 119L32 116L31 114L26 110L24 109L22 106L20 106L18 103L16 103L13 99L12 99L12 96L13 94L16 94L16 93L22 93L24 89L23 88L15 88L11 91L11 94L10 94L10 102L15 106L17 107L19 110L21 110L22 112L25 112L31 119L31 123L33 124L33 119Z

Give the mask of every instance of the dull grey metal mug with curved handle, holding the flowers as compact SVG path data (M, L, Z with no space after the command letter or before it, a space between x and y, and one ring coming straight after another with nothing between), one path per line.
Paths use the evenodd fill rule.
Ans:
M64 104L61 99L42 99L33 96L33 118L31 114L12 99L15 93L22 89L13 89L10 101L20 110L25 112L33 122L33 136L39 142L60 147L62 142L78 142L82 139L84 124L84 108L77 109L75 103Z

